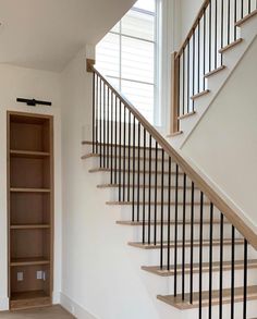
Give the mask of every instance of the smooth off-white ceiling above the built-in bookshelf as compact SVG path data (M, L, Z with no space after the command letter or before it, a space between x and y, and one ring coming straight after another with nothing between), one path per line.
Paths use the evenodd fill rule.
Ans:
M60 72L135 0L0 0L0 63Z

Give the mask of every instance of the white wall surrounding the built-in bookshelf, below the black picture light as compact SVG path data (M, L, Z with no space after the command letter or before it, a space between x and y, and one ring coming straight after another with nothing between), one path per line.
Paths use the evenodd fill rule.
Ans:
M17 97L52 101L52 107L26 107ZM60 81L51 72L0 64L0 310L8 309L8 212L7 212L7 111L52 114L54 116L54 292L59 302L61 289L61 123Z

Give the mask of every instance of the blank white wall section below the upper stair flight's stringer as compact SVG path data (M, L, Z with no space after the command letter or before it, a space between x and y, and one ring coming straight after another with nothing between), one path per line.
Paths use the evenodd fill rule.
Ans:
M257 38L182 148L257 230Z

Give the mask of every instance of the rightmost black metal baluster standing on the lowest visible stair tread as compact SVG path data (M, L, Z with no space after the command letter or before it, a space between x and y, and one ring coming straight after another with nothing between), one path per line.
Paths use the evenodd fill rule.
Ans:
M195 221L195 184L191 188L191 304L193 304L194 291L194 221Z

